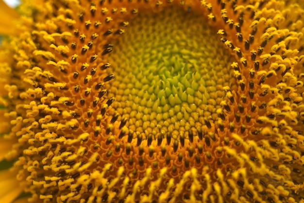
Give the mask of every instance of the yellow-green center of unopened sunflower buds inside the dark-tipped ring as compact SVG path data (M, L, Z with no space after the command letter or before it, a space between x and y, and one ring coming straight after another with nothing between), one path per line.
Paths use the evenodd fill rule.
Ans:
M214 122L231 86L231 57L199 14L178 8L142 12L118 38L108 61L113 108L137 135L179 135ZM143 137L143 138L144 138Z

